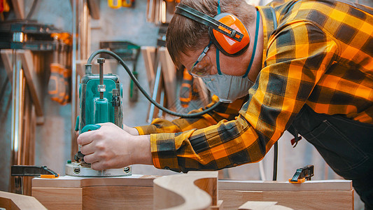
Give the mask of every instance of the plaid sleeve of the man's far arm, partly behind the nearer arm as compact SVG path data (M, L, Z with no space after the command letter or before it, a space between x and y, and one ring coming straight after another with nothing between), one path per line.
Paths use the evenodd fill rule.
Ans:
M204 108L191 111L190 113L197 113L204 111L205 109L213 106L219 99L214 95L212 97L211 104ZM232 120L238 115L241 106L247 101L247 97L237 99L232 104L222 103L213 111L204 114L198 118L179 118L176 120L164 120L157 118L153 120L150 125L135 127L140 135L145 134L157 134L157 133L176 133L184 132L192 129L201 129L204 127L209 127L210 125L215 125L220 120Z

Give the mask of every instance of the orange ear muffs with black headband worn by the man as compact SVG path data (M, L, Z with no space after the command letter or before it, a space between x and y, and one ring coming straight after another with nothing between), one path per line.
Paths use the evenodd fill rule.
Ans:
M250 43L248 30L231 13L220 13L211 18L183 3L176 6L175 13L195 20L209 27L209 36L216 47L225 55L238 56L244 53Z

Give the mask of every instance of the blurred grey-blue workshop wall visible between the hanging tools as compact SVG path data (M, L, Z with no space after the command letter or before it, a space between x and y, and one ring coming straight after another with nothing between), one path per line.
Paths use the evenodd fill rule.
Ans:
M356 1L353 1L356 2ZM360 3L373 6L370 0L360 0ZM26 3L26 11L31 2ZM146 22L146 0L137 0L134 8L108 8L107 1L101 0L100 19L91 20L91 51L99 49L99 41L131 41L137 45L155 46L157 27ZM72 31L72 10L70 1L39 0L32 18L45 24L53 24L66 31ZM131 65L129 65L132 68ZM105 68L105 66L104 66ZM137 63L139 81L149 92L143 58L140 55ZM121 66L115 67L116 73L123 83L124 123L129 126L145 125L148 101L139 94L139 101L135 104L128 102L129 78ZM115 73L115 72L114 72ZM10 123L11 123L11 85L3 85L6 71L0 62L0 190L8 190L10 169ZM48 94L44 101L44 125L36 127L36 165L46 165L59 174L64 174L64 164L71 154L71 104L60 106L52 102ZM290 134L279 140L279 172L278 180L286 181L293 176L295 169L304 165L315 165L314 179L339 179L325 164L321 155L304 139L296 148L290 146ZM262 161L265 179L272 179L273 154L272 151ZM158 170L152 166L133 168L134 174L171 174L172 172ZM243 165L225 169L223 176L229 179L260 180L260 164ZM356 198L358 201L358 197ZM358 207L358 205L356 205Z

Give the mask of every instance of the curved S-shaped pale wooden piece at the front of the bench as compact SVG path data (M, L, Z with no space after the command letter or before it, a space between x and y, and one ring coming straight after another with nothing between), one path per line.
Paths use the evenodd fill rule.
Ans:
M218 172L162 176L153 183L154 209L210 209L218 204Z

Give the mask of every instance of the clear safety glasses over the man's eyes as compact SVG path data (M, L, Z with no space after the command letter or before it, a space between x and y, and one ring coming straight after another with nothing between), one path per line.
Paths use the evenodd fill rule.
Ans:
M210 74L213 65L211 59L205 56L207 51L209 51L211 44L212 42L210 41L209 45L207 45L201 55L199 55L195 64L193 64L192 69L189 71L192 76L202 77Z

